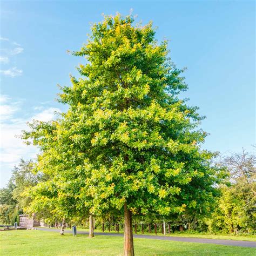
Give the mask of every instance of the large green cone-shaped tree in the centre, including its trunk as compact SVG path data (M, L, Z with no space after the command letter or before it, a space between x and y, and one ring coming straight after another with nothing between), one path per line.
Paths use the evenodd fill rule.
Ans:
M167 42L156 41L152 23L133 23L131 15L105 16L73 52L87 62L60 93L70 107L55 125L58 149L36 126L24 136L48 151L45 165L57 159L60 182L76 182L80 207L124 215L125 255L134 254L132 214L204 208L218 182L214 154L200 149L203 118L178 97L187 89L182 70Z

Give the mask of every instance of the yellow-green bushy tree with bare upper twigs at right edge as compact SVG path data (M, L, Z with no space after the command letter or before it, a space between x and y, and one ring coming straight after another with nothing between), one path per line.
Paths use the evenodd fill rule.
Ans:
M243 149L225 157L220 164L227 168L230 177L226 185L221 185L219 207L208 225L211 230L227 233L251 233L256 229L255 154Z

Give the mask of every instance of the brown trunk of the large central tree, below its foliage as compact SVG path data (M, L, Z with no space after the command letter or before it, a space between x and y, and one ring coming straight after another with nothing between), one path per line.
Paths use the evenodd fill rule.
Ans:
M124 256L134 256L132 236L132 213L124 204Z

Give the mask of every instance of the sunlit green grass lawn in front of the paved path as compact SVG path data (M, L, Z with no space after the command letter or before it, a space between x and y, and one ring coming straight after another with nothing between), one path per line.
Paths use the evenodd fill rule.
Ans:
M0 232L0 255L122 255L123 238L89 239L38 230ZM255 248L191 242L134 239L136 255L256 255Z

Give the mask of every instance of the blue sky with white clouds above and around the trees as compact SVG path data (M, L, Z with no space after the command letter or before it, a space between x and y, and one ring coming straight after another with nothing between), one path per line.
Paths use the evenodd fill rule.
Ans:
M2 1L1 2L1 184L20 158L36 149L15 137L32 119L50 120L65 106L57 84L83 63L66 53L86 42L90 23L102 14L153 21L159 41L170 39L171 58L189 89L182 97L207 117L204 148L221 154L252 151L255 144L254 1Z

